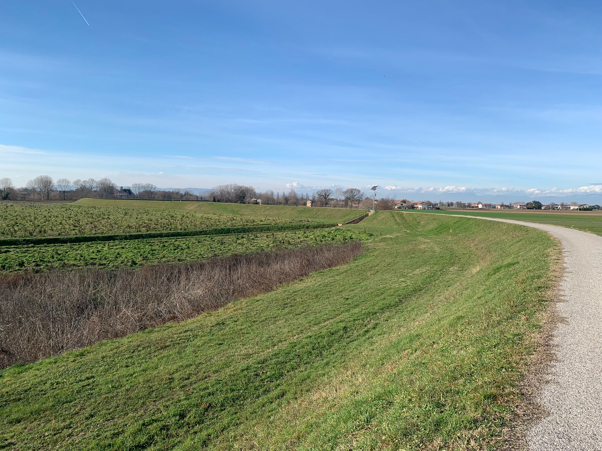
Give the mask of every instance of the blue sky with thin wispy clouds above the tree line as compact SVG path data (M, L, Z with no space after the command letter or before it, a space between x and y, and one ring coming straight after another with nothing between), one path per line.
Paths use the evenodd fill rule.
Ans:
M600 2L75 3L0 6L16 185L602 192Z

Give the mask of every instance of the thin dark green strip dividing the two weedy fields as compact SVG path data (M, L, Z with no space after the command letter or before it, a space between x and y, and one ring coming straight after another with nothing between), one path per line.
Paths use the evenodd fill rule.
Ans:
M264 224L248 225L243 227L217 227L205 230L178 230L175 232L146 232L146 233L121 233L116 235L81 235L81 236L49 236L41 238L0 238L0 246L23 246L28 244L67 244L84 243L92 241L116 241L145 238L171 238L174 236L201 236L201 235L230 235L232 233L253 232L282 232L286 230L329 229L338 224L321 222L302 222L299 224Z

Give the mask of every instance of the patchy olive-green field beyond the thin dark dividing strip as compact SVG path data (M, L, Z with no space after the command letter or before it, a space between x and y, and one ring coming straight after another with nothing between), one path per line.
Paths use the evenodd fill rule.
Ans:
M0 236L7 238L199 230L298 221L188 210L0 202Z

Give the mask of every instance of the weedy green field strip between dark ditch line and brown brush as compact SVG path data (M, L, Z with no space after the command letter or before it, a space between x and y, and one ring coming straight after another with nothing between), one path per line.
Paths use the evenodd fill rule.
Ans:
M73 244L41 244L0 247L2 272L46 271L52 268L137 268L158 263L185 263L288 249L301 246L336 244L367 239L367 234L343 229L296 230L190 238L93 241Z

